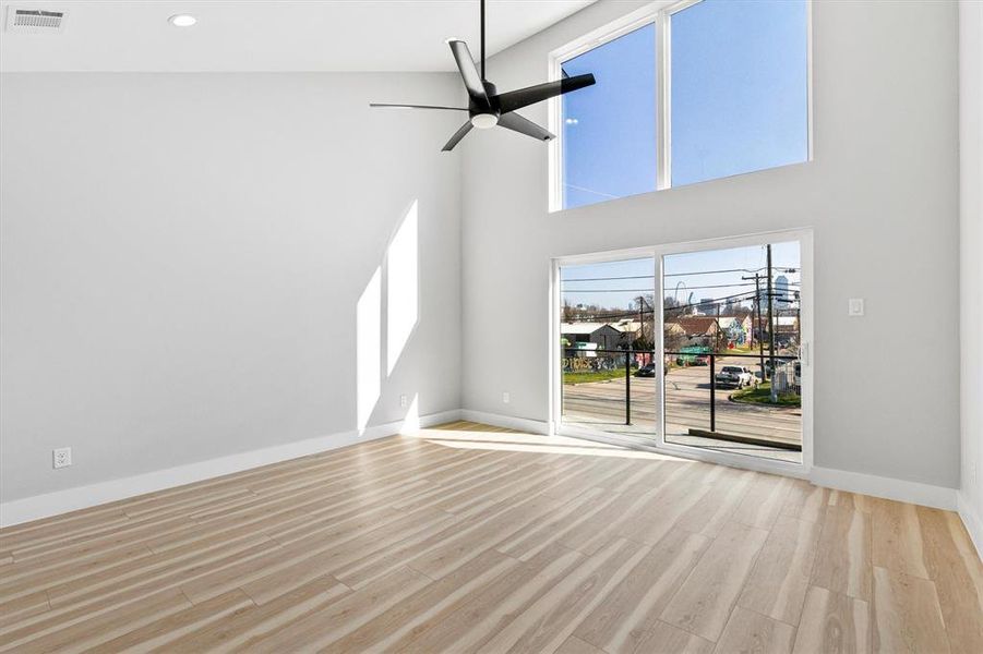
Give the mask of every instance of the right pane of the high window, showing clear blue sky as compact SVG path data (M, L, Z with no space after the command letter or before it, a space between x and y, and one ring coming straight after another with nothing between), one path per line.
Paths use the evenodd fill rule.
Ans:
M805 2L704 0L670 20L672 184L805 161Z

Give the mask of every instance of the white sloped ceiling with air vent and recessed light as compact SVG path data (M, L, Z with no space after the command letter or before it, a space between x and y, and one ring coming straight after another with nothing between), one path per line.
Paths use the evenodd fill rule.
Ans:
M489 0L489 57L595 0ZM60 34L11 34L10 7L68 11ZM0 0L0 71L451 71L478 57L478 0ZM167 19L190 13L179 28Z

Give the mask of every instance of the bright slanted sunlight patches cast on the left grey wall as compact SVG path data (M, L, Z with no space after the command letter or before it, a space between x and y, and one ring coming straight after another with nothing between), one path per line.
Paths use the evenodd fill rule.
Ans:
M400 219L382 263L375 267L356 304L356 413L359 436L365 433L382 397L384 383L393 376L419 322L418 213L419 202L415 199ZM418 403L419 396L413 395L412 401L407 403L405 428L410 427L410 422L419 425Z

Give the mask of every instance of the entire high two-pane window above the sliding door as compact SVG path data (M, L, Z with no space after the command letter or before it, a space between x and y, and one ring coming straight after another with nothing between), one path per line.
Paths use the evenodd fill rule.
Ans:
M559 101L552 208L807 160L807 2L657 3L555 52L597 84Z

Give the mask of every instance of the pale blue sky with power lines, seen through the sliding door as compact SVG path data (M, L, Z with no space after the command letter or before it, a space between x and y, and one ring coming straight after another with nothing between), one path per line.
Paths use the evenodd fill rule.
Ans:
M801 280L800 272L788 272L786 268L801 268L798 242L774 243L771 261L775 277L784 275L794 290ZM686 303L691 296L694 302L704 298L726 298L739 293L754 291L754 281L747 282L741 277L751 270L762 269L767 264L765 247L734 247L674 254L666 257L666 290L656 296L678 296ZM703 274L708 270L728 270L727 272ZM698 272L694 275L693 272ZM762 274L765 271L762 270ZM612 277L633 277L635 279L598 279ZM561 270L563 280L562 298L572 305L598 304L612 308L637 308L635 301L639 294L655 293L655 263L650 258L631 259L608 264L590 264L584 266L566 266ZM591 281L573 281L590 279ZM766 282L765 282L766 283ZM732 286L736 284L736 286ZM676 291L676 286L680 286ZM716 287L716 288L707 288ZM748 305L750 306L750 305Z

